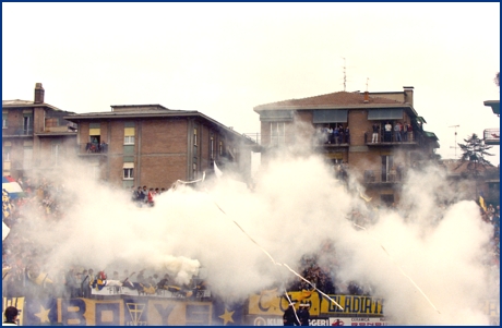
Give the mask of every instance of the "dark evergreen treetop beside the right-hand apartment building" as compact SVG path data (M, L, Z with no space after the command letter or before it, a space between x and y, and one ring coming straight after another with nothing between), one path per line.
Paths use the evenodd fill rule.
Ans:
M480 168L486 169L487 167L493 167L493 165L485 158L485 156L493 156L493 154L487 151L491 149L491 146L487 146L476 133L473 133L473 135L464 139L464 142L465 144L458 144L463 154L455 170L465 162L468 162L467 169L474 173L474 175L478 175L478 170Z

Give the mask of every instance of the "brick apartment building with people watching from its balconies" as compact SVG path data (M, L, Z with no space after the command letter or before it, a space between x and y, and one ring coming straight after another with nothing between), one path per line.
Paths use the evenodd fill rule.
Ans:
M324 154L334 170L340 168L359 178L372 203L392 204L399 201L406 169L435 158L438 137L423 130L427 123L414 108L414 87L391 93L338 92L302 99L261 105L260 114L262 165L277 149L308 139ZM385 135L385 124L409 124L413 132L398 141L394 131ZM378 142L372 143L373 125L378 125ZM349 138L326 143L321 130L349 127Z

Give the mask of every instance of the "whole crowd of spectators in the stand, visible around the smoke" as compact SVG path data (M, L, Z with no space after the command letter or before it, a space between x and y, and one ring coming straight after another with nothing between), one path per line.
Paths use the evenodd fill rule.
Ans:
M45 292L58 297L93 297L91 290L99 289L98 269L83 266L56 268L58 274L48 275L46 268L39 263L44 250L35 247L33 242L23 234L23 224L26 219L24 214L38 212L46 221L64 220L65 208L71 204L71 195L62 184L56 184L41 178L37 181L17 181L23 190L24 196L16 199L9 199L8 205L3 203L3 221L11 229L9 235L2 241L2 294L4 296L29 295L31 293ZM139 199L140 192L146 195ZM152 196L148 197L148 193ZM148 204L155 195L162 194L165 189L154 190L132 187L131 198L133 202ZM7 206L5 206L7 205ZM142 205L141 205L142 206ZM405 220L409 209L399 208L393 204L391 210L399 211ZM493 272L500 271L500 206L489 204L487 208L480 206L482 220L493 226L493 236L490 241L490 250L487 254L485 265ZM366 211L352 210L347 217L356 226L368 227L378 220L379 211L369 209ZM438 220L441 219L441 210L438 211ZM294 281L289 289L313 290L314 287L327 294L352 294L370 295L372 288L361 281L339 281L336 274L339 271L337 252L330 242L324 243L318 254L306 254L301 258L299 274L303 279ZM119 286L136 290L138 293L157 293L159 290L191 295L193 291L204 289L205 282L198 277L187 286L177 286L170 280L167 272L136 268L138 272L131 270L115 269L106 280L118 281ZM123 274L119 274L122 271ZM103 272L107 275L106 272ZM160 279L160 277L163 277ZM103 279L101 279L103 281ZM103 282L101 282L103 283ZM103 284L101 284L103 286Z

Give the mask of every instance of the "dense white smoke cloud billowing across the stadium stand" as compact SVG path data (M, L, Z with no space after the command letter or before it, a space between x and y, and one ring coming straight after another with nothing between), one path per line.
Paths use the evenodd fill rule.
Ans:
M138 208L129 191L75 174L83 168L72 162L59 175L70 201L65 218L25 214L23 234L51 276L72 266L146 269L186 283L202 266L211 291L238 302L263 289L284 292L298 279L267 254L298 270L303 254L331 241L337 282L371 288L392 324L488 324L477 304L491 295L483 258L493 231L474 202L439 206L455 199L440 172L410 173L404 209L376 212L359 196L363 187L335 180L322 156L290 154L262 166L253 191L224 172L171 189L152 208ZM354 209L371 223L355 226Z

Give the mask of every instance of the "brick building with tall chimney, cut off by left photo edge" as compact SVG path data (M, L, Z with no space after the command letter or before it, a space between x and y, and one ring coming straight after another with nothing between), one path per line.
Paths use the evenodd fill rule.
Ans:
M44 102L44 87L37 83L34 101L2 100L3 175L48 174L65 156L74 155L76 125L63 118L73 112Z

